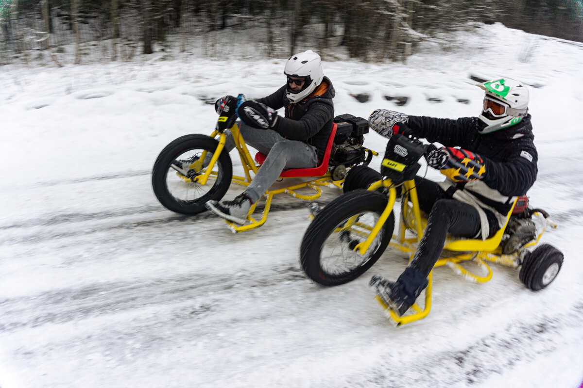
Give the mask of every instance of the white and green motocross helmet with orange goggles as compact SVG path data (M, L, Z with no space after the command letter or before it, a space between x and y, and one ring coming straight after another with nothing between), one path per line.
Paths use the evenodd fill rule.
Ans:
M477 84L486 91L482 113L478 116L486 123L480 133L490 133L521 122L528 113L528 89L510 78Z

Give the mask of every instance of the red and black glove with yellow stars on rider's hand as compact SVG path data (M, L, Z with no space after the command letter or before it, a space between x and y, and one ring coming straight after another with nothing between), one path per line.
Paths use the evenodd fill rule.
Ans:
M433 149L425 156L427 165L439 169L449 179L456 182L482 179L486 166L480 155L465 149L441 147Z

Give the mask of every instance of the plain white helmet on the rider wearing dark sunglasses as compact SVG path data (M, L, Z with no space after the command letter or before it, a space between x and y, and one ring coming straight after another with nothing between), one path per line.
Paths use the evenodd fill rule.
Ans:
M290 89L289 84L287 85L286 97L292 104L303 100L324 79L320 56L311 50L290 56L283 73L288 77L305 78L304 87L300 91L293 91Z

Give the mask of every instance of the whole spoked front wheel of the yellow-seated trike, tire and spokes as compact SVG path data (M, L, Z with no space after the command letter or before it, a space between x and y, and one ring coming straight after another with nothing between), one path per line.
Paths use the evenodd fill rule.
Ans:
M387 248L395 227L391 212L364 255L354 251L369 236L388 198L376 191L357 189L323 208L308 226L300 246L300 264L311 280L323 286L351 282L366 272Z

